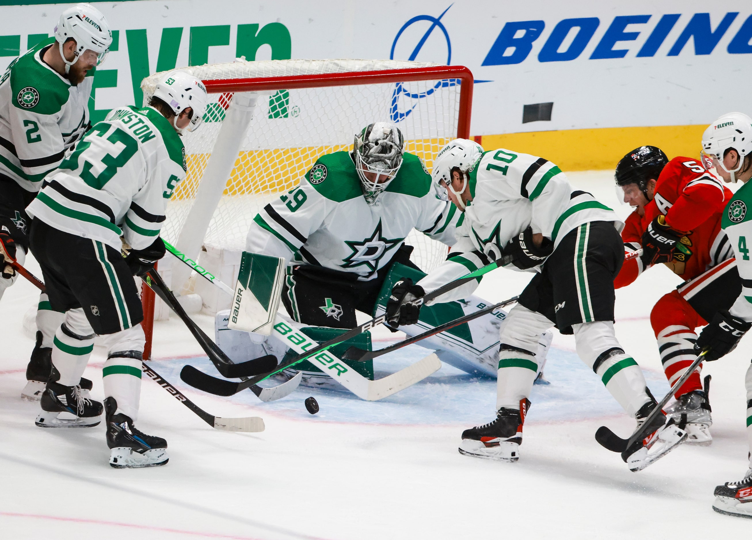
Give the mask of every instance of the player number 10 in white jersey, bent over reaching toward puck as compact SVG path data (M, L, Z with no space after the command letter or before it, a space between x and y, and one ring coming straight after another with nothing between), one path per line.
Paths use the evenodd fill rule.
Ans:
M398 282L387 314L411 324L420 306L408 304L502 255L535 276L520 294L502 328L496 420L465 430L459 452L491 460L517 461L522 428L535 380L538 336L556 324L574 333L581 359L602 379L623 409L640 425L656 401L637 363L614 334L614 276L623 262L616 214L586 192L573 191L553 163L506 149L484 152L457 139L441 149L433 166L440 198L465 213L447 261L417 285ZM467 297L473 281L438 297ZM622 453L632 471L644 469L687 437L673 420L658 415L654 429Z

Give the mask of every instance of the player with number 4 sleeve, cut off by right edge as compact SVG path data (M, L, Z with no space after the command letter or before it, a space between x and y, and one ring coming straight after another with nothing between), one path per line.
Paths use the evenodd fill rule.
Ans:
M716 312L695 342L695 352L703 350L707 361L733 351L752 327L752 118L744 113L728 113L708 126L702 134L702 163L714 167L725 182L741 186L726 205L720 228L734 249L741 277L741 294L731 309ZM752 449L752 364L744 379L747 387L747 441ZM720 514L752 518L752 458L747 472L738 481L726 482L714 491L713 509Z

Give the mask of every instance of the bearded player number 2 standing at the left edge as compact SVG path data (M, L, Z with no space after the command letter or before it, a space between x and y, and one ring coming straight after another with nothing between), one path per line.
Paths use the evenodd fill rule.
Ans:
M20 264L29 249L26 206L42 179L62 161L89 128L89 96L94 77L112 43L105 17L88 4L66 9L47 38L15 59L0 80L0 252ZM93 73L93 72L92 72ZM3 265L0 297L17 279ZM38 400L50 376L50 354L62 313L41 294L36 317L37 343L26 368L21 395ZM88 390L91 381L79 384Z

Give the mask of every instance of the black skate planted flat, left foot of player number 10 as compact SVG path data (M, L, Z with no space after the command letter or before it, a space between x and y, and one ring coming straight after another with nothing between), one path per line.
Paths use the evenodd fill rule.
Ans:
M530 400L520 400L520 410L502 407L496 420L462 432L459 453L486 460L517 461L522 444L522 427Z

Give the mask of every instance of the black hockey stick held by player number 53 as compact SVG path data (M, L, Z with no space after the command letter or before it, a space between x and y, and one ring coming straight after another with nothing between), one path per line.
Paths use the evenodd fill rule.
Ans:
M242 364L233 363L224 351L217 347L217 344L188 316L183 306L180 305L180 302L177 301L177 298L175 298L172 291L170 291L162 280L162 276L159 276L159 273L155 270L149 270L141 279L180 317L186 327L188 327L188 330L190 330L190 333L193 333L193 337L199 342L201 348L204 349L211 363L214 364L214 367L217 368L217 371L223 377L235 379L237 377L257 375L264 373L264 370L273 369L277 365L277 357L271 354L243 362Z

